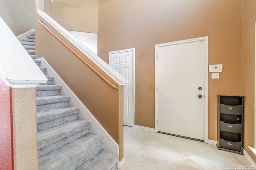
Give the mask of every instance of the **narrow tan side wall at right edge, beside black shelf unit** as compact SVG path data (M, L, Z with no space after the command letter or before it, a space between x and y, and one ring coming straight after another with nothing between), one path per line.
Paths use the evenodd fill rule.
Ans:
M242 31L242 95L244 104L244 149L256 162L256 157L248 149L254 147L254 61L255 61L255 21L256 1L243 0Z

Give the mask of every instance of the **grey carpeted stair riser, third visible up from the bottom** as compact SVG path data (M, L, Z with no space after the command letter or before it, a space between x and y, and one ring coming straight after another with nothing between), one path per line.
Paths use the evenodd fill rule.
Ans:
M43 123L38 123L37 124L37 131L43 131L45 129L51 128L51 127L56 127L58 125L67 123L69 121L74 121L76 119L78 119L79 113L73 114L73 115L68 115L68 116L64 116L64 117L58 117L56 119L53 119L51 121L46 121Z

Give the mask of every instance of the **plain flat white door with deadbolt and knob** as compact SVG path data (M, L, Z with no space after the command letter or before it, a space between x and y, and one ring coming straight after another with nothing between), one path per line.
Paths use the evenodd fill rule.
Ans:
M204 140L204 41L157 52L158 131Z

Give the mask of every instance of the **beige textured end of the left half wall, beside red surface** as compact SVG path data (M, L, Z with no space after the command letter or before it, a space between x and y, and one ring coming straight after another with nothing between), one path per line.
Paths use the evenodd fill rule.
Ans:
M36 88L12 89L14 170L37 170Z

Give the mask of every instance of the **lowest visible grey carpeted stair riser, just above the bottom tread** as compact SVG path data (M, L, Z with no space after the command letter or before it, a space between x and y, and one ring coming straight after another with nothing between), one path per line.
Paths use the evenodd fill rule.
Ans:
M89 152L85 153L84 156L82 156L80 159L76 160L70 166L62 168L60 170L75 170L76 168L78 168L79 166L84 164L84 162L86 162L87 160L92 158L92 156L94 156L100 150L102 150L102 146L103 146L102 144L98 145L96 148L94 148L94 149L90 150Z

